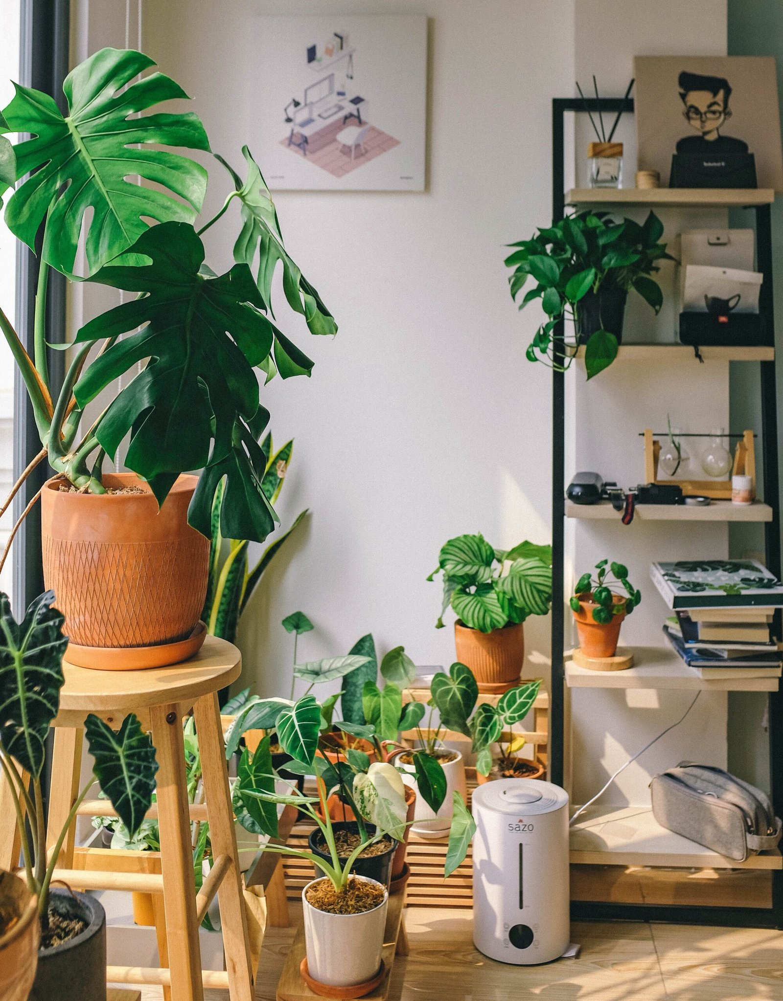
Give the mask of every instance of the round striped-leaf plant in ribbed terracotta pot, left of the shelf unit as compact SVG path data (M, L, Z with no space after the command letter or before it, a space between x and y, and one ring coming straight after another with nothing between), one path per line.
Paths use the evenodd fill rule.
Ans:
M552 547L521 543L496 550L484 536L458 536L441 550L444 600L437 629L451 607L457 660L466 664L479 691L500 694L513 688L525 660L528 616L545 616L552 602Z

